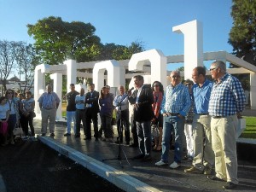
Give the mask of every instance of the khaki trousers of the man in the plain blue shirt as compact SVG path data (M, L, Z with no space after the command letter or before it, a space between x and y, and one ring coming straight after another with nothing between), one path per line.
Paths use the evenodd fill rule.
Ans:
M214 153L212 150L211 116L195 114L192 123L194 137L193 166L204 170L205 166L214 165Z

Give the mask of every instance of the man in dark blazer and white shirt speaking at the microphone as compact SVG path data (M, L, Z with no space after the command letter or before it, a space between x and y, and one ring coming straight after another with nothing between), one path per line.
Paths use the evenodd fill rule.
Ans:
M153 119L152 103L154 97L151 86L144 84L143 76L136 75L133 77L134 86L137 90L131 95L128 92L128 100L134 108L134 120L137 124L138 144L141 154L133 159L142 159L143 161L151 160L151 128L150 122Z

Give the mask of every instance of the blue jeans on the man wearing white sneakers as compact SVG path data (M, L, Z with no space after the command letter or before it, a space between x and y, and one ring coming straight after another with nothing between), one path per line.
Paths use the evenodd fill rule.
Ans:
M177 116L164 117L161 160L166 163L168 162L172 129L174 129L174 135L175 135L174 161L177 163L181 163L182 154L183 154L183 138L182 137L184 132L184 120L178 118Z

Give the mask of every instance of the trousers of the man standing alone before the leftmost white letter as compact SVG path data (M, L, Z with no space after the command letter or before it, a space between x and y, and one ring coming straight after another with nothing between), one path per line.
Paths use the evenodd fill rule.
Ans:
M49 119L49 133L55 132L55 119L56 119L56 111L57 108L45 109L41 108L41 116L42 116L42 134L47 133L48 119Z

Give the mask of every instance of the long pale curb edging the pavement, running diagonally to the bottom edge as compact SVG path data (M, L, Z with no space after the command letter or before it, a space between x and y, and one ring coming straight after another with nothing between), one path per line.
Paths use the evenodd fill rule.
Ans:
M50 148L55 149L60 154L63 154L78 162L81 166L89 169L90 172L94 172L100 177L107 179L110 183L113 183L120 189L128 192L160 192L159 189L149 186L147 183L143 183L137 178L129 176L127 173L119 171L112 166L108 166L99 160L95 160L86 154L68 147L50 137L38 137L42 143L48 145ZM1 191L2 192L2 191Z

